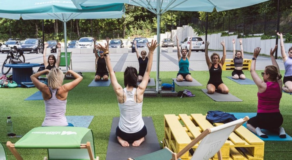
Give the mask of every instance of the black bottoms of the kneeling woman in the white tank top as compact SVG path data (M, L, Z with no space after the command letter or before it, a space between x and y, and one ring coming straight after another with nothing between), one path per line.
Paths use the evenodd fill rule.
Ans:
M136 133L123 132L123 131L121 131L119 126L116 128L116 136L121 137L125 141L136 141L142 137L145 137L146 135L147 135L147 128L145 125L140 131L138 131Z

